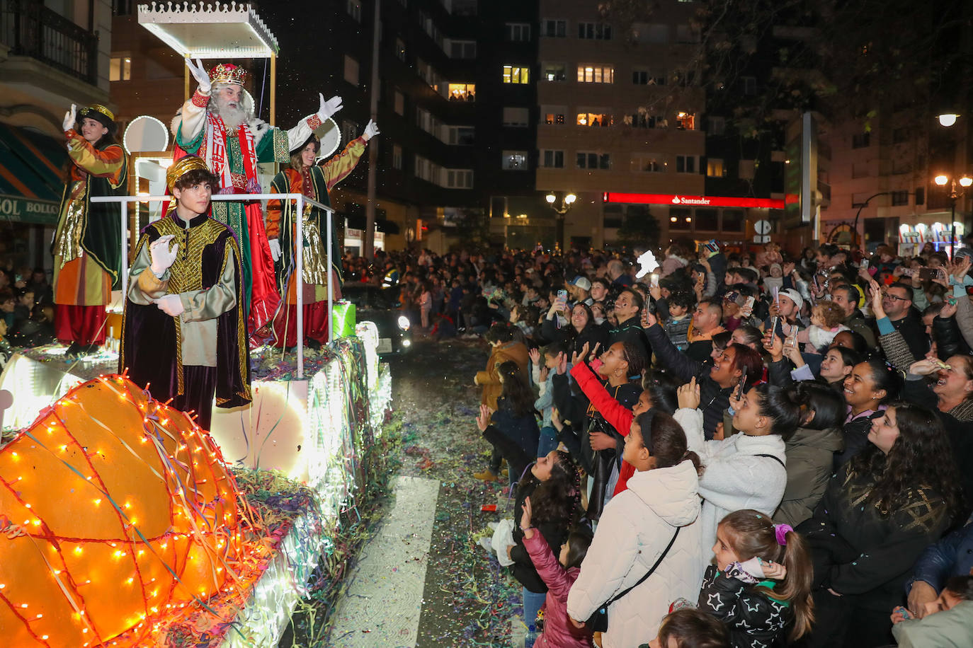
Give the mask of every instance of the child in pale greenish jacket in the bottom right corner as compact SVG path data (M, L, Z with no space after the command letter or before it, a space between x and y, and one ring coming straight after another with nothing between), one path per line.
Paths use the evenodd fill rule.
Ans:
M973 646L973 576L946 581L942 594L925 604L921 620L900 606L892 612L892 623L899 648Z

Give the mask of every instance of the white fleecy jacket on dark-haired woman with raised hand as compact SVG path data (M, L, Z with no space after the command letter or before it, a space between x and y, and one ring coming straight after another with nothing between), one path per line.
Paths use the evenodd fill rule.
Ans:
M766 513L767 517L774 515L787 486L784 440L779 434L748 436L738 432L722 441L706 441L702 410L682 407L676 410L674 418L686 432L689 449L703 460L700 536L705 566L713 558L716 527L728 514L752 508ZM776 459L756 455L771 455Z

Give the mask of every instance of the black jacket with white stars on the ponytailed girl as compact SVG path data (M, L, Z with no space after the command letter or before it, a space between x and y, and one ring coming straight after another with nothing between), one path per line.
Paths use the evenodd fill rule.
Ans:
M793 608L757 590L772 587L774 581L747 584L738 578L739 569L732 565L728 573L706 567L699 607L723 622L730 631L734 648L771 648L782 643L788 624L794 618Z

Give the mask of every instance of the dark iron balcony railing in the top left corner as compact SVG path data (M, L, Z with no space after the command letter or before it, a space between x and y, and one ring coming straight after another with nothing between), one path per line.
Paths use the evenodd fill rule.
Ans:
M97 84L97 35L37 0L0 0L0 41L12 54Z

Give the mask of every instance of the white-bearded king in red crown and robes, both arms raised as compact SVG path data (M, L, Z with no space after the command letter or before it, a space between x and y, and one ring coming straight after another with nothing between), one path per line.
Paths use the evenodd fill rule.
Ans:
M287 162L290 152L307 141L324 119L342 109L341 97L325 101L290 130L275 128L254 116L253 100L243 90L246 70L220 63L208 73L197 59L186 66L198 82L193 96L172 119L174 159L198 155L219 179L224 193L261 193L260 162ZM280 303L260 201L214 202L213 218L228 225L239 242L245 312L249 330L268 324Z

